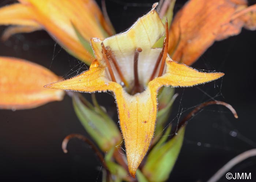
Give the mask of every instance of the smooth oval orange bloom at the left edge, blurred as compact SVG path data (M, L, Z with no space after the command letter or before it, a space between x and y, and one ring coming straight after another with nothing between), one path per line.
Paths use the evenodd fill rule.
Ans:
M43 86L60 78L48 69L17 58L0 57L0 108L27 109L62 100L63 90Z

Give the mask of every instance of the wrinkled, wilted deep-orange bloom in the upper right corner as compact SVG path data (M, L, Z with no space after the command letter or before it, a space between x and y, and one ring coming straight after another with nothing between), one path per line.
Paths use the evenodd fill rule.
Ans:
M191 65L214 41L256 29L256 5L247 0L190 0L170 27L169 54Z

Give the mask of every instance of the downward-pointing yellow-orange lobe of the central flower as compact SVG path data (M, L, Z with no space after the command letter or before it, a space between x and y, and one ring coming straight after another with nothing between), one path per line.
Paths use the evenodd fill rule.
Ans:
M125 141L129 172L135 177L153 138L157 116L157 92L150 89L129 95L115 91L120 126Z

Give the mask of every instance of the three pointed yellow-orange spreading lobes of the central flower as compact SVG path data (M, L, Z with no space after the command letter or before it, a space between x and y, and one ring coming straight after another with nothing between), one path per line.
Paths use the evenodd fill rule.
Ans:
M135 177L142 159L153 138L157 118L157 91L162 86L193 86L218 79L222 73L204 73L170 58L166 60L166 73L153 79L142 93L129 95L120 84L110 81L105 75L106 67L95 60L90 69L82 74L47 88L59 88L84 92L113 91L116 97L120 127L125 141L128 168Z

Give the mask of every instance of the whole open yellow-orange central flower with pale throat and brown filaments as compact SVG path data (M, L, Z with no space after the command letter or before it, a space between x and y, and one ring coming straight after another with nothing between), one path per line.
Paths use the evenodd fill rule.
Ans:
M83 92L113 92L133 177L153 138L159 88L193 86L224 75L199 72L174 62L167 55L168 41L164 48L152 48L164 34L167 40L167 24L163 25L153 8L124 33L107 39L92 38L96 59L88 71L45 86Z

